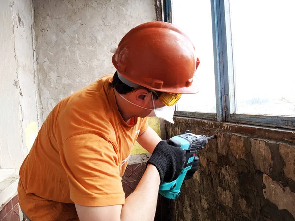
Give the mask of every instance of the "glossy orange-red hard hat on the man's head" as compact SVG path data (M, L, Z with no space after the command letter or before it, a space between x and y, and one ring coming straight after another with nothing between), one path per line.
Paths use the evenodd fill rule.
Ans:
M200 63L192 41L167 22L147 22L131 29L112 57L118 72L143 87L169 93L199 91L194 77Z

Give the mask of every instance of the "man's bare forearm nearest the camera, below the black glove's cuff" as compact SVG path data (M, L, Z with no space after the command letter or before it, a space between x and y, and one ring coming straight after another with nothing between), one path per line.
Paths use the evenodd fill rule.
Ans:
M153 221L159 185L159 172L155 166L149 164L134 192L125 200L121 221Z

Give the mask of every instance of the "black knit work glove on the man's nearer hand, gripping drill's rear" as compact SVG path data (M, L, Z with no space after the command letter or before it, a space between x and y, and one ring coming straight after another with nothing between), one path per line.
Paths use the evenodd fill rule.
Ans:
M160 174L161 183L176 180L185 164L186 151L160 141L147 162L154 165Z

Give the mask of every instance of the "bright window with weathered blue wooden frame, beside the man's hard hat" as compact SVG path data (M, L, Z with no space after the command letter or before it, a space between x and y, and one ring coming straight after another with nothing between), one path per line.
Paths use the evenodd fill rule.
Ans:
M200 58L176 115L295 128L294 0L164 0Z

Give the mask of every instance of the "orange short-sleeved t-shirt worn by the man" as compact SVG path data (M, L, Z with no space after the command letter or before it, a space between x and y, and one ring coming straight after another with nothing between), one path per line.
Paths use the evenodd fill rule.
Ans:
M124 204L121 177L147 118L128 125L107 75L60 101L20 168L19 204L31 220L78 220L74 203Z

